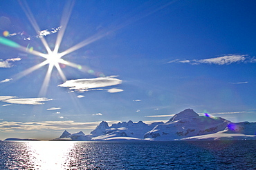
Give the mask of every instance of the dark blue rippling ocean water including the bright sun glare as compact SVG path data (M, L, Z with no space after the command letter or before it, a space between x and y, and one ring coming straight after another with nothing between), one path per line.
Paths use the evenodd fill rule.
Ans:
M0 169L256 169L256 141L2 141Z

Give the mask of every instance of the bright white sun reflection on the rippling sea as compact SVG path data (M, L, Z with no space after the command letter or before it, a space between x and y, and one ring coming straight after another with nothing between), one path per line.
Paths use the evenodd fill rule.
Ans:
M27 143L30 161L35 169L68 169L75 142L31 141Z

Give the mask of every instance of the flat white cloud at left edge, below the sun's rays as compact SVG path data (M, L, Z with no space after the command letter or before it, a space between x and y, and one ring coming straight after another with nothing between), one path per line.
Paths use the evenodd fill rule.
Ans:
M0 101L11 103L11 104L20 104L20 105L43 105L44 101L52 99L48 98L17 98L15 96L0 96Z

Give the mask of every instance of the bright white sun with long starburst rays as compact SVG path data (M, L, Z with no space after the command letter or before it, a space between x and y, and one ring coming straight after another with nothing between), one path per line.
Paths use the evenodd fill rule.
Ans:
M26 13L28 20L33 25L33 28L35 29L35 31L40 32L39 25L37 24L37 21L33 17L33 14L28 6L28 3L26 3L26 1L24 1L23 3L20 3L20 5L21 5L21 8L23 8L24 12ZM71 16L71 11L72 11L73 6L74 6L74 1L68 1L64 7L64 10L62 13L62 19L60 21L60 25L61 25L60 28L62 28L62 29L60 29L60 31L57 33L57 39L56 39L55 47L53 50L51 50L51 48L49 47L46 39L44 39L44 36L40 37L40 40L42 41L42 43L47 51L47 54L38 52L36 50L28 50L27 47L21 46L18 43L15 43L14 41L10 41L8 39L0 37L0 43L3 45L13 47L17 50L20 50L22 52L26 52L29 54L33 54L35 56L41 56L44 59L46 59L42 63L34 65L33 67L30 67L27 70L24 70L23 72L19 72L18 74L16 74L14 76L14 79L17 80L19 78L22 78L22 77L30 74L31 72L34 72L35 70L39 69L40 67L43 67L44 65L48 65L48 70L47 70L46 76L44 78L44 83L42 84L41 90L39 92L39 96L46 96L46 92L47 92L48 84L50 82L53 67L56 67L57 71L59 72L59 74L62 78L62 81L64 81L64 82L66 81L66 76L62 72L60 64L75 67L77 70L81 70L83 72L88 72L89 74L94 75L94 73L95 73L89 67L85 67L85 66L82 67L81 65L78 65L76 63L71 63L69 61L65 61L64 59L62 59L62 56L65 56L71 52L74 52L75 50L78 50L81 47L89 45L90 43L93 43L94 41L98 41L99 39L102 39L102 37L107 36L107 34L109 34L109 31L98 32L97 34L94 34L93 36L91 36L87 39L84 39L84 41L81 41L80 43L73 45L73 47L70 47L67 50L64 50L64 52L59 52L60 44L62 43L62 38L64 36L64 32L66 30L66 25L68 24L68 20ZM97 75L97 74L95 74L95 75Z

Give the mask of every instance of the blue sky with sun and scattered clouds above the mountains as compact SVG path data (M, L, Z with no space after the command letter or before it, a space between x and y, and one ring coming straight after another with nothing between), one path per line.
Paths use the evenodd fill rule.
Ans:
M1 139L187 108L256 122L255 1L0 4Z

